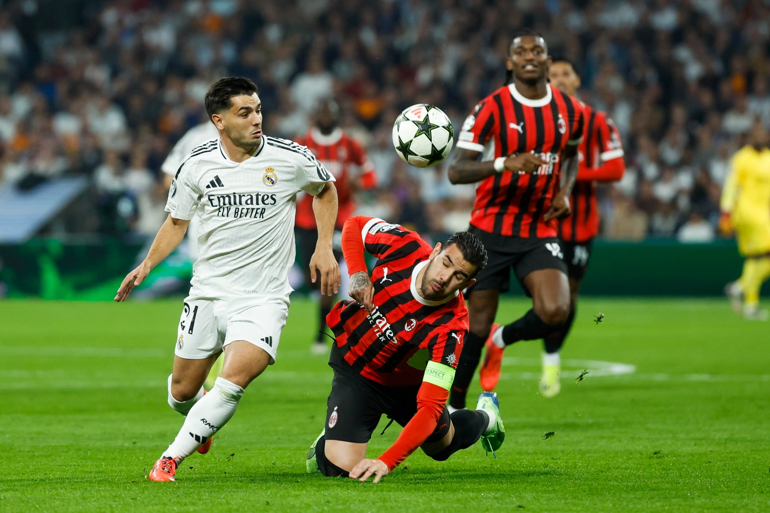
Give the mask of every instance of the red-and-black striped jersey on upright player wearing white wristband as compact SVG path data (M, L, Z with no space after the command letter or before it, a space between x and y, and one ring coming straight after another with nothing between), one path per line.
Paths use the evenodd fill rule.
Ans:
M484 98L465 120L457 147L494 160L531 152L547 164L537 173L504 171L480 182L470 224L512 237L554 237L557 221L543 215L561 186L561 151L583 137L580 102L546 85L544 98L524 98L511 84Z

